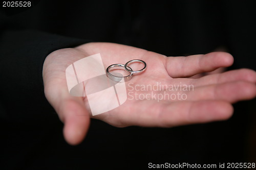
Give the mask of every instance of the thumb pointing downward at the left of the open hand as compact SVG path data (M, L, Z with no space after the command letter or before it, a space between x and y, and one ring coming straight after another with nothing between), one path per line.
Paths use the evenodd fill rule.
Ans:
M60 88L62 81L55 79L54 83L49 81L45 85L46 98L64 124L63 135L66 141L75 145L80 143L87 134L90 114L81 98L71 96L66 88Z

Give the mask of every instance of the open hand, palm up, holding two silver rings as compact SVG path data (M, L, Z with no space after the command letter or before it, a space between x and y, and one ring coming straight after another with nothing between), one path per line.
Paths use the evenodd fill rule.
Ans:
M133 85L193 85L190 91L180 92L186 100L136 100L126 102L105 113L91 116L86 98L69 94L65 70L73 62L100 53L104 67L114 63L126 63L141 59L147 69L130 81ZM202 72L227 67L233 63L228 53L214 52L188 57L166 57L140 48L114 43L87 43L76 48L65 48L51 53L45 60L43 79L47 100L65 124L63 134L70 144L78 144L86 136L90 118L98 118L116 127L145 126L173 127L179 125L207 123L224 120L232 115L232 103L253 99L256 95L256 73L249 69L239 69L204 76L199 79L189 77ZM129 88L126 86L126 88ZM130 89L131 90L131 89ZM150 91L136 91L146 94ZM163 93L164 90L154 91ZM147 96L148 97L148 96Z

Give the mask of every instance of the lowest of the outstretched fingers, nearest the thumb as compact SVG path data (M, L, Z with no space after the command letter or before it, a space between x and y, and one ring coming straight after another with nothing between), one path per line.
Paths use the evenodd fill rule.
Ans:
M166 103L144 100L129 107L129 113L119 114L115 118L124 126L173 127L224 120L229 118L232 112L232 106L224 101ZM112 119L113 125L115 122L116 120Z

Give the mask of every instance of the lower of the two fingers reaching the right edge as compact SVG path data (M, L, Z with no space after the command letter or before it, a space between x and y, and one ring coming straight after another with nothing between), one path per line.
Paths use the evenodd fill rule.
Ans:
M165 87L165 88L164 88ZM175 84L173 86L160 85L157 88L145 90L137 88L136 92L130 92L129 97L135 100L155 101L202 101L224 100L235 103L240 100L255 98L256 86L247 81L226 82L195 87L194 85Z

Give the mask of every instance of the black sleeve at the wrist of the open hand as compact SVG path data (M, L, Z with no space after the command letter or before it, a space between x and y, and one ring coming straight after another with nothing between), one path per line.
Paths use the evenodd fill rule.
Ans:
M51 106L44 95L42 66L48 54L87 40L34 30L5 31L0 37L0 117L37 119Z

